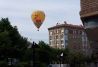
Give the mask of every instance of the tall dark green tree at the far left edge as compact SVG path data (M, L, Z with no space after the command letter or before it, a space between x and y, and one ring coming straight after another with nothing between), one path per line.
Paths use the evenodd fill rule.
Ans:
M29 42L22 37L16 26L12 26L8 18L0 20L0 59L11 61L14 59L21 60L27 49Z

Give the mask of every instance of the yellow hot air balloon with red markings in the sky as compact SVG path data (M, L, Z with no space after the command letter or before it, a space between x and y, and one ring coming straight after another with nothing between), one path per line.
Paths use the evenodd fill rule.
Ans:
M31 15L32 21L35 24L35 26L39 28L42 25L43 21L45 20L45 13L43 11L37 10L32 13Z

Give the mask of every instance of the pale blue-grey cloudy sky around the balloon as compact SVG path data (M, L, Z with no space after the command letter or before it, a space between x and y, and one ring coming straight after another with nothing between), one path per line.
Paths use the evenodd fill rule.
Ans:
M45 12L46 18L40 31L34 26L31 14L35 10ZM79 0L0 0L0 19L8 17L13 26L28 40L48 43L48 29L66 21L69 24L82 24L79 16Z

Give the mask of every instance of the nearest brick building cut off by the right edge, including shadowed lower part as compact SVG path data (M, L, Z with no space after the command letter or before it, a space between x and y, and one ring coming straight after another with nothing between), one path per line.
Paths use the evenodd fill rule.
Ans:
M98 56L98 0L81 0L80 18L93 54Z

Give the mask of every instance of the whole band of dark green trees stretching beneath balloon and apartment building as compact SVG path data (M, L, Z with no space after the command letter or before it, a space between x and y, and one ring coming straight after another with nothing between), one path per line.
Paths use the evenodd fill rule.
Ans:
M47 67L50 63L81 64L87 59L82 53L72 53L68 48L51 48L44 41L28 48L32 43L22 37L16 26L12 26L8 18L0 20L0 66L7 67L8 58L17 59L14 67L30 67L32 61L37 67ZM61 53L63 56L61 57ZM95 60L95 57L93 57ZM86 59L86 60L85 60Z

